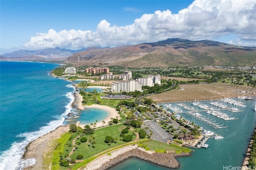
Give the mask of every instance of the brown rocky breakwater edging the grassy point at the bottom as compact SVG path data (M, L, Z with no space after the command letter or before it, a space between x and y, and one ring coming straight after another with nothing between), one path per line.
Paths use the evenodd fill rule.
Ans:
M115 156L112 156L112 154L115 154ZM124 160L127 160L131 157L140 158L142 160L146 160L148 162L152 162L154 164L164 166L167 168L179 168L180 164L175 159L175 157L180 156L189 156L190 153L184 153L176 154L176 153L156 153L152 151L146 151L142 148L130 148L126 152L120 152L120 154L117 153L111 153L111 158L105 159L104 163L102 162L100 167L91 167L87 166L84 170L107 170L108 168L119 164L123 162ZM108 155L106 155L108 156ZM97 161L97 160L95 160ZM98 161L97 161L98 162Z

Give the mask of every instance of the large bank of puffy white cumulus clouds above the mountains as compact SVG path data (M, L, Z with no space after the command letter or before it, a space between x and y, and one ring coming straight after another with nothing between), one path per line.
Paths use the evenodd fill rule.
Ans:
M131 25L111 25L102 20L96 31L50 29L37 33L26 49L134 45L177 37L190 40L214 39L235 34L235 45L256 46L256 3L253 0L195 0L188 8L144 14Z

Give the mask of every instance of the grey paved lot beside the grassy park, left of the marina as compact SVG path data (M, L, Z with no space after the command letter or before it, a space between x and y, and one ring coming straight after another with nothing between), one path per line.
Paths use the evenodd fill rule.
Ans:
M153 131L152 138L158 141L167 141L173 136L166 132L156 121L147 120L144 123L148 126L150 130Z

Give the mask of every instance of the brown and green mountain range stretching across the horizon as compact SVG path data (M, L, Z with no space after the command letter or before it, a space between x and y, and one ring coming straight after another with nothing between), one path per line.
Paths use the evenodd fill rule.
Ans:
M202 65L256 66L256 47L179 38L112 48L90 47L78 51L58 47L35 51L14 51L3 56L1 60L6 60L6 57L20 60L21 56L36 56L42 59L46 59L46 56L48 59L57 59L54 56L70 56L64 63L74 66L118 65L130 68Z

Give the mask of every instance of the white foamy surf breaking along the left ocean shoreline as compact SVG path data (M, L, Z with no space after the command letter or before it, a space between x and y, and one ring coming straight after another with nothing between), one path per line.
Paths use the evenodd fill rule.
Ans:
M74 86L69 86L74 87ZM74 88L75 89L75 88ZM67 115L72 107L71 104L74 102L74 91L68 92L65 95L70 102L65 106L66 110L58 120L51 121L46 126L41 127L39 131L27 132L18 135L18 137L25 137L25 139L19 143L14 142L10 149L4 151L2 155L0 155L0 170L22 170L25 166L30 166L36 163L35 159L23 160L22 156L25 152L25 147L35 139L38 139L40 136L49 133L50 131L56 129L56 127L63 125L64 117Z

